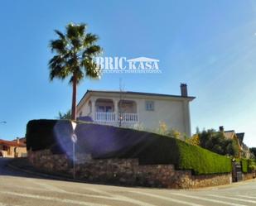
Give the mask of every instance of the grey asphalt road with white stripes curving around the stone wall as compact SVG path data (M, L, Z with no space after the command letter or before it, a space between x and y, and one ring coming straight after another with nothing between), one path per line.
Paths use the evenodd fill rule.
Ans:
M256 180L196 190L128 188L46 180L12 170L7 162L0 158L0 206L256 205Z

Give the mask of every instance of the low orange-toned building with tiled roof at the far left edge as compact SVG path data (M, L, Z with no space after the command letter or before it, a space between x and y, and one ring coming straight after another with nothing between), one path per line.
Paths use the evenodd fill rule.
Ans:
M0 156L3 157L22 157L27 156L25 138L13 141L0 140Z

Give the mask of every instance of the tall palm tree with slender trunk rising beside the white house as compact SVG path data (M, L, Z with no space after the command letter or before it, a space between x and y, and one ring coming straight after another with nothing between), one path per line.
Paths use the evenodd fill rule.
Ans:
M70 78L73 86L71 119L76 119L77 85L85 77L99 79L99 65L94 61L102 48L95 43L99 37L86 32L85 24L68 24L65 34L55 30L56 40L50 42L51 51L56 53L49 61L50 79Z

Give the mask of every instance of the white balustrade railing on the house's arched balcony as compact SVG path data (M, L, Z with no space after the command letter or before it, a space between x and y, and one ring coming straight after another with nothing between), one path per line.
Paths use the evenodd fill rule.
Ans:
M138 122L138 113L95 113L96 122L118 122L120 118L122 122Z

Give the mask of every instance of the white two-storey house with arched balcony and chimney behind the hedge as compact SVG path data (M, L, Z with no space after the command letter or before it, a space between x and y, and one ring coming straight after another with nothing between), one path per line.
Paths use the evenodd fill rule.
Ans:
M186 84L181 84L181 95L87 90L77 105L77 117L117 127L142 124L148 129L165 122L169 129L191 136L189 103L194 98L187 95Z

